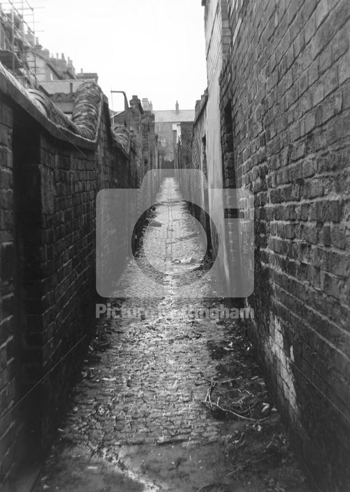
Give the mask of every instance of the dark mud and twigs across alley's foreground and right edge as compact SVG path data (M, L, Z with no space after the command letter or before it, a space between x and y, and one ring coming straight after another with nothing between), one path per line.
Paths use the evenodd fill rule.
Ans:
M192 334L198 337L207 322L211 321L194 320ZM126 443L97 450L94 456L84 442L72 446L67 436L60 436L36 491L310 491L251 343L237 323L214 324L224 328L225 337L208 340L215 370L212 378L203 374L196 385L205 390L206 418L221 423L219 436L203 443ZM99 354L108 350L111 335L109 327L100 327L90 346L89 364L96 364Z

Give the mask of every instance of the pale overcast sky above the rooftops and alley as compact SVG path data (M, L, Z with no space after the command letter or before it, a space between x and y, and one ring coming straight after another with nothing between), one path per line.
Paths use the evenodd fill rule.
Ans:
M69 56L99 84L152 100L154 110L194 109L207 86L200 0L28 0L39 42ZM114 109L123 109L113 95Z

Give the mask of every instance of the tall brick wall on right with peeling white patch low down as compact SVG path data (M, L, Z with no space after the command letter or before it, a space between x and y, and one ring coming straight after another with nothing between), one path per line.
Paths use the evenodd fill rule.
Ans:
M255 290L247 300L255 322L249 329L309 470L323 490L345 491L350 3L228 5L221 144L226 185L255 195Z

